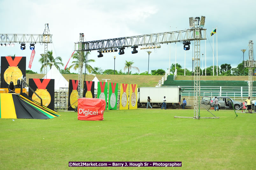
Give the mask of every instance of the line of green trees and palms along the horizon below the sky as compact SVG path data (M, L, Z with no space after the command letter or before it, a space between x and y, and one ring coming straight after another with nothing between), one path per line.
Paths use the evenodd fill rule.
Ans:
M88 52L90 54L90 52ZM39 59L39 62L42 64L40 68L40 72L42 73L43 67L44 67L44 54L40 54L41 58ZM15 56L15 55L14 55ZM124 74L132 74L132 75L148 75L148 72L145 71L143 73L139 73L139 68L134 67L134 62L133 61L127 61L125 60L124 63L124 72L122 69L120 70L113 70L113 69L106 69L103 70L100 67L91 67L90 63L95 62L95 60L87 60L87 54L82 52L82 62L83 62L83 68L84 73L86 73L86 70L91 73L91 74L119 74L119 75L124 75ZM73 61L71 65L64 69L60 69L60 67L64 66L62 63L62 59L60 56L58 57L53 57L53 51L48 51L47 52L47 66L50 68L54 65L61 74L78 74L78 73L71 73L70 69L73 68L74 70L77 70L79 67L79 52L76 52L72 56ZM248 75L248 68L244 68L243 71L243 65L244 62L242 61L241 63L238 64L237 67L231 67L230 64L222 64L220 67L218 66L218 75L224 75L224 76L231 76L231 75ZM177 69L177 75L184 75L184 68L181 67L180 64L176 63L176 69ZM127 70L127 71L126 71ZM132 73L131 70L136 70L138 72ZM171 74L174 74L175 72L175 64L171 65L170 68ZM33 72L32 70L26 70L26 73L28 74L37 74L37 72ZM166 72L163 69L156 69L156 70L151 70L151 73L149 75L164 75ZM193 75L193 71L190 71L186 68L186 75ZM200 69L200 75L205 75L205 70L202 68ZM212 66L206 68L206 75L213 75L213 68ZM217 66L214 66L214 75L217 75Z

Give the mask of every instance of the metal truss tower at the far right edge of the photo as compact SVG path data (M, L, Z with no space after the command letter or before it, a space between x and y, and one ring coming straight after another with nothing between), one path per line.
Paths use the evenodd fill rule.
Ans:
M253 42L249 41L249 60L245 61L245 67L249 67L248 73L248 95L252 100L252 72L253 67L255 67L255 60L253 60Z

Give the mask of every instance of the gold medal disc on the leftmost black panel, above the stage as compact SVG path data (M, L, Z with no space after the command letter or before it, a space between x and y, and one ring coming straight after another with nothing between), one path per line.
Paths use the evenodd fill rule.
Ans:
M13 81L14 85L17 85L17 80L22 76L22 72L18 67L9 67L4 72L4 81L10 84Z

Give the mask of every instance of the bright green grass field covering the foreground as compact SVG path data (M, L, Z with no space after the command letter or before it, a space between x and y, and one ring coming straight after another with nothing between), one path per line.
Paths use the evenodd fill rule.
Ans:
M108 110L103 121L75 112L47 120L0 119L0 169L70 169L68 161L182 161L182 169L255 169L256 114L193 110ZM201 117L211 117L201 109ZM178 168L178 167L177 167ZM167 169L87 167L86 169ZM168 168L169 169L169 168Z

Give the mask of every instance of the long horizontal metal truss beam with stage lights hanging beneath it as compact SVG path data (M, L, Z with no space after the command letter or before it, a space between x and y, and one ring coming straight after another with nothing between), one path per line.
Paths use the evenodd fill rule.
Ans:
M206 39L206 29L199 28L198 36L200 40ZM82 42L82 50L92 51L100 49L113 49L118 47L147 46L153 44L174 43L192 40L195 40L195 28L173 32L162 32L131 37L87 41ZM79 43L75 43L75 51L79 50L77 45L79 45Z

